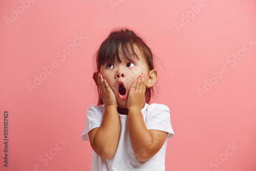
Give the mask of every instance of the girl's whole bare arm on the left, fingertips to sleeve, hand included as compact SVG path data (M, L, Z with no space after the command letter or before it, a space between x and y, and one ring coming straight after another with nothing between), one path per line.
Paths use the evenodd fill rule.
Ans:
M110 159L116 153L119 138L119 117L116 96L108 81L95 72L93 79L100 90L105 111L100 127L91 130L88 135L93 151L103 159Z

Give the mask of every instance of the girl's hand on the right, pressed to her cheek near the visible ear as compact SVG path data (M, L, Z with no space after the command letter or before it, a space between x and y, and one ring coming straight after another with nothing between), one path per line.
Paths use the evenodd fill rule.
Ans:
M133 81L129 95L127 97L127 109L137 108L142 110L145 105L145 92L147 85L147 76L145 73L139 75L137 80Z

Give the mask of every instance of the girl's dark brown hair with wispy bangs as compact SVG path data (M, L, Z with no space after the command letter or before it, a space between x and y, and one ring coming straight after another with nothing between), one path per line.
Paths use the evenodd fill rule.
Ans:
M141 55L145 58L147 62L147 66L150 70L155 69L154 62L153 62L153 54L145 44L145 41L137 36L134 31L129 29L120 29L120 30L113 30L108 38L106 38L100 48L96 52L96 63L97 63L97 72L100 72L100 67L105 63L114 63L115 57L117 57L118 61L121 62L119 54L125 56L125 58L131 61L131 58L138 57L134 46L138 48ZM98 91L98 105L103 104L101 93L99 89ZM150 87L146 89L145 92L145 102L149 103L151 97L155 94L154 88Z

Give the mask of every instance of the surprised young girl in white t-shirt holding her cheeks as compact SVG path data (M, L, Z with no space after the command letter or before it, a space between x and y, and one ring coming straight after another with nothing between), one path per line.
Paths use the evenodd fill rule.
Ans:
M153 55L131 30L112 31L96 54L98 105L87 111L81 138L93 149L91 170L165 170L169 109L150 102L157 80Z

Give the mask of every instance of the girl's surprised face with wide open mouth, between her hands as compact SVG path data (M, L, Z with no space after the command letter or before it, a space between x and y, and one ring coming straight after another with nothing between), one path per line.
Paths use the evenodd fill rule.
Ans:
M100 73L103 79L106 79L115 93L119 108L127 108L127 96L129 95L130 88L134 80L137 80L139 75L144 72L147 76L150 69L141 55L138 54L134 57L134 61L127 60L120 54L121 62L115 58L114 63L105 63L100 68ZM122 86L119 86L122 84Z

